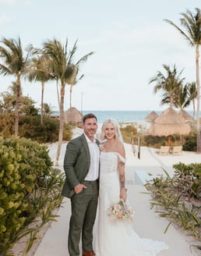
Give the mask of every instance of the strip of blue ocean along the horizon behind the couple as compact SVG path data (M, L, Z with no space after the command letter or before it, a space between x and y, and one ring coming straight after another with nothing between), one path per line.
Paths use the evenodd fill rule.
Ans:
M83 115L92 112L97 116L97 123L103 123L105 119L115 119L118 123L140 123L144 122L146 116L150 114L150 110L131 110L131 111L124 111L124 110L118 110L118 111L111 111L111 110L84 110ZM160 115L162 112L156 111L158 115ZM193 115L192 111L188 111L189 115Z

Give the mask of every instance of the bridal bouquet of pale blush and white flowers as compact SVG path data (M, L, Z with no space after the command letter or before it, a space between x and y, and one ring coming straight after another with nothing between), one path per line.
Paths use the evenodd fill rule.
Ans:
M120 200L117 204L112 205L107 210L108 215L112 220L127 219L132 220L134 211L131 207L125 204L125 201Z

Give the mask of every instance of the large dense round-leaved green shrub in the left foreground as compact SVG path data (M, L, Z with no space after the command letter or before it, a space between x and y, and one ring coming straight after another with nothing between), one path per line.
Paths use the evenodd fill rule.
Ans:
M55 188L48 187L47 190L51 180L55 179L60 185L63 182L59 173L59 178L52 175L55 172L52 165L48 147L44 144L25 138L4 140L0 137L0 251L3 255L7 255L22 230L52 203L52 199L58 197L56 201L61 200L57 186L54 196ZM47 197L44 198L45 193ZM34 194L36 200L33 200ZM38 207L40 198L46 200L43 207Z

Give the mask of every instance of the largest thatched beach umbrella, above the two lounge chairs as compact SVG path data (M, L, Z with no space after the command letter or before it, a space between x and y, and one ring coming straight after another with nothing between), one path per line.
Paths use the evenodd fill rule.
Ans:
M168 108L150 124L149 134L168 137L168 144L170 145L171 135L187 135L190 131L191 127L185 119L173 108Z

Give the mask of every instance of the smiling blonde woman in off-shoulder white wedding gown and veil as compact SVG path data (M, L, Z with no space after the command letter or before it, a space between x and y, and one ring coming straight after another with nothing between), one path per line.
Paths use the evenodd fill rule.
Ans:
M154 256L167 249L159 241L140 238L133 229L132 222L125 219L111 221L108 208L119 200L126 201L125 189L125 148L118 124L107 119L101 128L100 145L100 191L97 225L97 256Z

